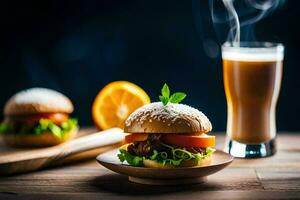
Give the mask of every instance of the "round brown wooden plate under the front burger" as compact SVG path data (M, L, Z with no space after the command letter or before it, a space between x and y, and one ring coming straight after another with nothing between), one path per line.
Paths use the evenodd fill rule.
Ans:
M200 183L208 175L224 169L233 161L233 157L223 151L215 151L212 162L208 166L183 167L174 169L155 169L147 167L133 167L122 164L117 154L119 149L114 149L97 157L97 161L116 173L125 174L129 181L149 185L182 185Z

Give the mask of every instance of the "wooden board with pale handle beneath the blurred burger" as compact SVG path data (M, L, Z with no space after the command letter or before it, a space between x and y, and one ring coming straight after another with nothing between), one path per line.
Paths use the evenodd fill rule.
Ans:
M0 137L0 175L11 175L95 158L101 152L121 146L122 129L95 132L82 129L77 138L47 148L20 149L6 146Z

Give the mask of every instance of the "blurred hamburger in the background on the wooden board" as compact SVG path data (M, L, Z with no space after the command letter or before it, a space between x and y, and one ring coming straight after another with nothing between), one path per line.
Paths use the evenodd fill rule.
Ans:
M46 88L31 88L12 96L4 107L0 124L3 141L11 146L45 147L73 138L77 120L65 95Z

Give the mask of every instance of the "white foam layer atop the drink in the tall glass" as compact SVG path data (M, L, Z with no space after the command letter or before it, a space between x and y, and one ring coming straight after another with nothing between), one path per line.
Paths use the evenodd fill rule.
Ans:
M281 44L273 46L232 46L224 44L222 46L222 58L224 60L236 61L282 61L284 56L284 47Z

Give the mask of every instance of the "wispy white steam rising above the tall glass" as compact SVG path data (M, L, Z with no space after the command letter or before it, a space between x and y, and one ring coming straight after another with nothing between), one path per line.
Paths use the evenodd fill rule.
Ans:
M223 7L227 10L227 15L222 15L216 11L216 2L222 1ZM210 9L214 23L229 22L230 30L226 41L239 46L243 39L242 28L248 28L248 35L251 35L253 25L265 16L271 14L275 9L283 5L285 0L211 0ZM224 11L223 11L224 13ZM249 40L250 38L244 38ZM253 39L253 38L252 38Z

